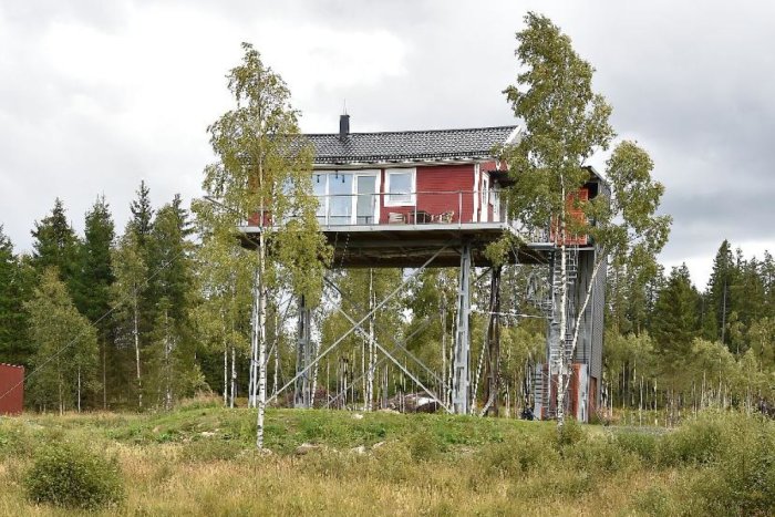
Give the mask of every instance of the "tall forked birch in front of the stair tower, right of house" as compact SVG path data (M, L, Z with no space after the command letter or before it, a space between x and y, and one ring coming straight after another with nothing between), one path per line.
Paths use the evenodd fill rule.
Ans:
M583 201L576 193L590 178L587 166L595 153L611 144L611 106L592 91L592 66L574 50L570 38L551 21L536 13L525 17L526 28L517 33L516 55L520 62L517 82L505 93L514 113L524 122L520 141L506 151L515 179L507 193L512 216L546 227L551 221L559 255L559 328L557 422L565 422L565 394L570 364L578 342L579 322L591 298L600 267L613 261L653 261L666 241L670 218L657 216L663 192L651 179L653 164L632 142L623 142L607 163L611 195ZM581 213L576 217L571 213ZM589 235L597 247L592 281L577 313L568 310L567 250L571 237ZM569 319L576 324L569 325ZM570 339L566 329L572 330Z

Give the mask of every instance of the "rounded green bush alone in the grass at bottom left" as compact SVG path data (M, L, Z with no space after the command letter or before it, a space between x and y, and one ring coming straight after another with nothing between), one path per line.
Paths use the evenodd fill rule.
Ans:
M117 459L69 443L42 449L24 486L30 500L65 508L100 508L124 498Z

